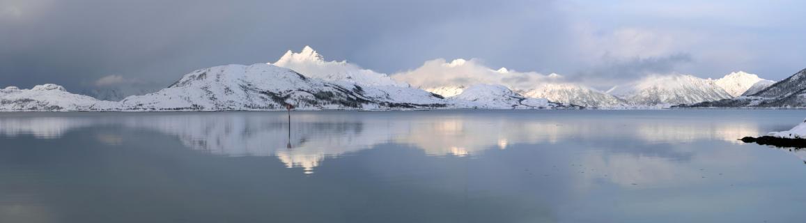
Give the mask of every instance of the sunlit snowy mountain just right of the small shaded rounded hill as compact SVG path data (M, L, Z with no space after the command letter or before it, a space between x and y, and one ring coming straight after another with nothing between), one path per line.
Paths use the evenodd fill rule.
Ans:
M600 92L583 85L567 83L546 83L537 88L523 91L526 97L546 98L563 104L580 105L591 108L622 108L627 102L608 93Z

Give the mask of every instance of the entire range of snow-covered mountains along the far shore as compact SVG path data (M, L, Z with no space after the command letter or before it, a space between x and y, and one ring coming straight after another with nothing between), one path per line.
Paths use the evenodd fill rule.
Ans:
M304 47L298 53L286 52L274 63L200 69L168 88L122 101L99 101L68 93L58 85L30 90L10 87L0 92L0 110L262 110L284 109L287 104L297 109L543 109L575 105L630 109L717 101L742 94L750 96L740 97L743 100L754 98L746 104L773 106L804 101L799 93L791 93L803 89L797 76L775 85L746 72L733 72L717 80L689 75L647 76L602 92L557 74L492 69L478 60L430 60L421 68L388 76L347 61L326 61L313 48ZM110 90L93 94L114 99L128 93ZM779 97L787 97L788 102L769 101Z

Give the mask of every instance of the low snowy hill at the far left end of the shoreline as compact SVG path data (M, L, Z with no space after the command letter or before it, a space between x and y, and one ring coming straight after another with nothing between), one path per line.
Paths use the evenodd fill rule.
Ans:
M114 109L115 102L69 93L60 85L36 85L32 89L0 89L0 110L67 111Z

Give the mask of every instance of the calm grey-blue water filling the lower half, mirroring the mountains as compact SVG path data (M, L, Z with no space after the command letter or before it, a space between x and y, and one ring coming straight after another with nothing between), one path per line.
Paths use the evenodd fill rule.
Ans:
M0 222L796 222L802 110L0 114Z

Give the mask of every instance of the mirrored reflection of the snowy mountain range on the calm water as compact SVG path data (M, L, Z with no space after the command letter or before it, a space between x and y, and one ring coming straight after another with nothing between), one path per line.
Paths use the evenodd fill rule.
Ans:
M555 116L546 116L549 114ZM73 129L87 126L152 130L175 136L193 150L223 156L275 156L286 167L301 167L306 173L311 173L327 158L384 143L410 145L422 149L426 155L467 156L517 144L551 144L581 138L587 142L636 137L645 143L700 139L737 142L736 138L761 132L753 122L708 124L664 119L624 120L596 116L568 118L555 113L528 112L497 116L461 111L293 112L289 136L286 114L277 112L11 115L0 118L0 134L6 137L30 134L36 138L59 138ZM114 134L98 135L97 138L109 145L124 140ZM646 155L646 151L638 150L621 152ZM670 152L685 151L658 151L653 155L663 156ZM679 157L671 157L676 158ZM586 159L602 163L600 159ZM626 165L630 162L609 163Z

